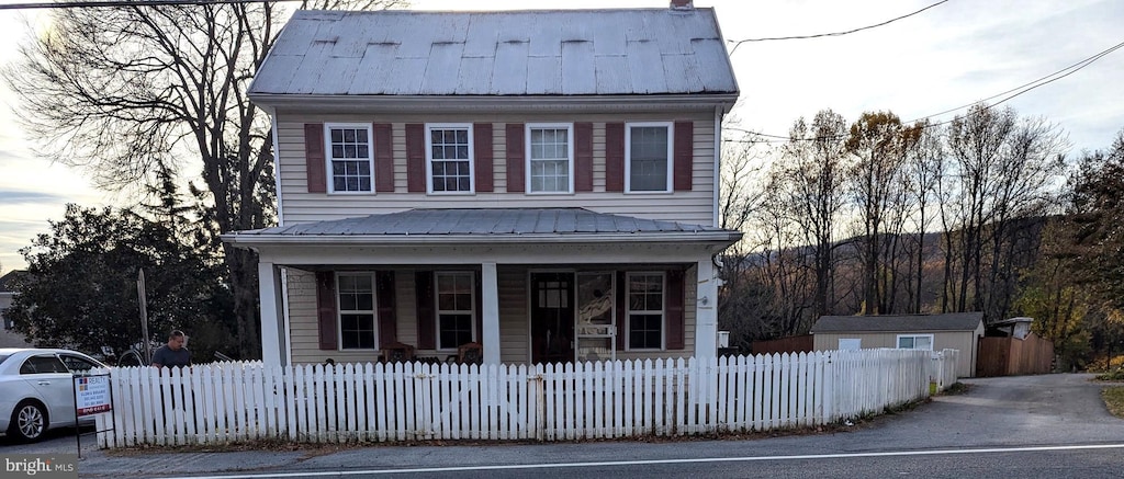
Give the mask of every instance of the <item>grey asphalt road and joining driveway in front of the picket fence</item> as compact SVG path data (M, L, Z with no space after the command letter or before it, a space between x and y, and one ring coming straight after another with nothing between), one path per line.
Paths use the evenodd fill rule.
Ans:
M1090 375L968 379L968 393L847 431L758 440L156 452L83 448L81 477L1124 477L1124 420ZM90 437L92 442L92 437ZM87 445L87 444L83 444ZM73 436L0 445L74 452Z

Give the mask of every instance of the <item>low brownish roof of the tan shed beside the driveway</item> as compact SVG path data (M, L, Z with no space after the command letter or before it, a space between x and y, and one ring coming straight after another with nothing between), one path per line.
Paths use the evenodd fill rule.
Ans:
M896 331L975 331L984 313L905 314L876 316L819 316L813 333L896 332Z

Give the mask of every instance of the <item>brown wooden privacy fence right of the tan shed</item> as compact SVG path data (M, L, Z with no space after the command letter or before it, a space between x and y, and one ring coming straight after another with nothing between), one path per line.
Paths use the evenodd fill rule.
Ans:
M980 338L976 376L1044 375L1053 368L1053 342L1030 333L1018 338Z

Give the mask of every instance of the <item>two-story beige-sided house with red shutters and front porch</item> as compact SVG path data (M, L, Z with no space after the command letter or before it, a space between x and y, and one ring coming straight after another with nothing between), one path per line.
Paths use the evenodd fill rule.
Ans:
M715 356L737 95L690 1L298 11L250 89L280 225L223 237L260 255L265 362Z

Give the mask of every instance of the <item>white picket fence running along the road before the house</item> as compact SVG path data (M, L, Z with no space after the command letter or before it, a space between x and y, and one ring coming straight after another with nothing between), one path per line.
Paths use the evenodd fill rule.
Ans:
M860 350L537 366L115 368L115 413L99 416L98 427L111 431L98 440L115 448L768 431L922 399L933 371L955 371L954 361L948 352Z

